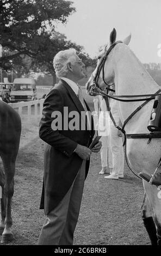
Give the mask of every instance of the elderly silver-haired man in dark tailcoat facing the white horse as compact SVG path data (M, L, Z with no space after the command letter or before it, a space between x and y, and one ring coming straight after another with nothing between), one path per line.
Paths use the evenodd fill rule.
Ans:
M58 52L53 65L60 81L45 98L39 130L40 138L47 143L40 205L46 222L39 245L72 245L91 151L100 151L101 142L92 150L88 148L95 131L77 84L84 77L82 59L75 49L69 49ZM71 125L74 123L75 129Z

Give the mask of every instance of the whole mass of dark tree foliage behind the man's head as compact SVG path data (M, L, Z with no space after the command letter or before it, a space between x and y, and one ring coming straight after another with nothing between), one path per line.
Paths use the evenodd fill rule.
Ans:
M0 44L3 57L0 66L21 76L44 72L53 76L53 57L61 50L75 48L85 65L94 65L84 48L55 31L55 23L66 22L75 11L71 1L2 0L0 3Z

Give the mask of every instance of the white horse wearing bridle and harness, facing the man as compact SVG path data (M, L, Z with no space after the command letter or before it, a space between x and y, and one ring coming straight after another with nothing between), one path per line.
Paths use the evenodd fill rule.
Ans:
M114 45L115 40L116 31L113 29L110 33L109 44L101 53L97 67L89 78L89 81L86 83L88 92L94 83L95 75L98 73L99 64L109 47ZM103 88L106 86L104 81L108 84L115 83L116 95L155 94L160 87L154 82L143 64L141 64L139 59L127 46L130 40L131 35L123 40L122 43L116 44L109 52L104 64L104 74L101 70L97 85L98 87ZM124 123L128 116L141 105L142 102L117 101L117 107L122 123ZM128 121L125 126L126 133L149 133L147 126L151 117L153 102L154 100L148 101L148 103ZM152 138L149 144L147 144L147 141L147 138L127 139L127 157L135 172L144 172L151 176L161 157L161 138ZM143 185L145 190L144 202L142 205L144 225L150 236L152 245L161 245L161 199L158 197L159 191L157 186L151 185L145 180L143 180Z

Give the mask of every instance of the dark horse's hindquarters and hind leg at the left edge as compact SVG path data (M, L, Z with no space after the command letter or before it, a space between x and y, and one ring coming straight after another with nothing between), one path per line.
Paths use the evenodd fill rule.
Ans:
M0 156L4 171L0 169L1 198L1 243L13 240L11 225L11 199L14 194L15 162L20 144L21 118L7 103L0 101Z

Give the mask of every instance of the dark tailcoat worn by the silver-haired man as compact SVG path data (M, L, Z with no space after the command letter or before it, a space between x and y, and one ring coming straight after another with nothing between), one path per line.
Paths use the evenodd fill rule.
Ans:
M46 215L64 198L76 178L83 161L76 153L73 153L77 144L88 147L95 134L92 118L91 131L87 129L72 131L66 129L64 126L66 122L64 121L64 107L68 107L69 113L77 111L80 121L80 112L84 111L84 108L71 87L65 81L60 80L46 96L39 126L39 136L47 143L44 160L44 182L40 203L40 209L44 209ZM90 111L88 105L86 107ZM51 117L53 116L53 111L59 111L62 114L62 130L53 130L51 127L54 120ZM71 119L67 120L67 124L69 124ZM86 175L88 174L89 163L90 161L86 161Z

